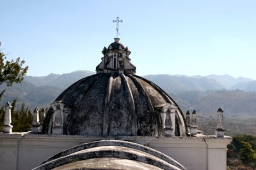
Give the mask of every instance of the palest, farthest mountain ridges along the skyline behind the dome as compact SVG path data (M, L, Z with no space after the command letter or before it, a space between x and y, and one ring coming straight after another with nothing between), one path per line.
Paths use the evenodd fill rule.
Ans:
M74 71L67 74L49 74L48 76L25 76L24 81L32 83L36 87L51 86L60 89L66 89L69 85L84 78L95 74L93 71ZM234 78L228 74L209 76L185 76L170 74L153 74L143 76L148 80L160 85L170 92L181 92L188 90L243 90L246 92L256 91L256 81L250 78Z

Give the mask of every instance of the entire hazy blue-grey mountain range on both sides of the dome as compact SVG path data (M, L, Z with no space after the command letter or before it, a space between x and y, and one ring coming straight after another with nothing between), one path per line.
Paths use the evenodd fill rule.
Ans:
M25 103L31 108L49 107L50 103L72 83L95 74L93 71L74 71L67 74L48 76L26 76L22 83L6 89L1 106L17 97L17 106ZM222 107L230 115L256 113L256 81L250 78L234 78L229 75L184 76L154 74L143 76L168 92L179 104L182 111L198 110L214 113Z

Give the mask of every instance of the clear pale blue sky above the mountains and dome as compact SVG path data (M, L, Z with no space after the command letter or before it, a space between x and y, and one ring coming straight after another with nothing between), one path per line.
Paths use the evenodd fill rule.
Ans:
M256 80L256 1L0 1L1 50L28 75L95 71L116 36L138 75L230 74Z

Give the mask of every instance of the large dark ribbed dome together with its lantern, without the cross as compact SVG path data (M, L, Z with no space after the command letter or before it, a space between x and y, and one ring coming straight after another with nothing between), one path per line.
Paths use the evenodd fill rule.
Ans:
M186 136L186 120L179 106L152 81L135 75L127 51L116 52L122 55L108 51L97 74L62 92L45 116L42 133Z

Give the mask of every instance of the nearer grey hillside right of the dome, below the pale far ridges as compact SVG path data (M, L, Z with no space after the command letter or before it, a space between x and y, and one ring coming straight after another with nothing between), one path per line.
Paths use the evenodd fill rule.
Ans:
M242 90L215 90L205 92L179 92L171 94L182 111L216 113L219 107L232 116L256 115L256 92Z

